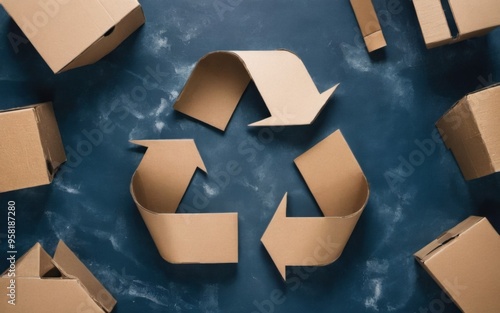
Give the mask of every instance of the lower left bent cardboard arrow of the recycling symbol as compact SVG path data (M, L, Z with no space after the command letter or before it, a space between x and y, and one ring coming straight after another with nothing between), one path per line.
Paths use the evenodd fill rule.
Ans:
M161 256L170 263L237 263L238 215L175 214L197 169L193 140L136 140L147 147L130 193Z

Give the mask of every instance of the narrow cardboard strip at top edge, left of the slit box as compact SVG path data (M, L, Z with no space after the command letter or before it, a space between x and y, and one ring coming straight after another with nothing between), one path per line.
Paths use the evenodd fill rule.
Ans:
M387 46L372 0L351 0L351 6L368 52Z

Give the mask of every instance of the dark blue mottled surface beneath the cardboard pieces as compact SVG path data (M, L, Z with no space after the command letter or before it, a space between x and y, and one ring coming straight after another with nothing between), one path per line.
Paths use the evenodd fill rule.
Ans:
M393 188L384 174L419 149L415 140L432 139L434 123L455 101L499 79L499 30L426 50L411 2L379 0L388 47L370 58L349 1L142 2L143 28L97 64L61 75L28 44L15 52L8 34L21 33L0 12L0 108L53 100L70 157L52 185L0 195L2 249L6 204L15 200L19 251L40 241L52 253L63 239L117 298L116 313L459 312L440 300L440 288L412 254L469 215L487 216L498 229L500 176L465 182L441 141ZM267 114L255 86L225 133L172 110L206 53L275 48L296 52L320 91L341 83L312 126L275 129L262 151L240 154L238 145L262 131L246 125ZM141 93L151 69L161 75ZM112 130L102 143L76 156L85 133L103 122ZM285 284L260 237L285 192L290 215L319 216L293 159L336 129L365 171L370 201L336 263L294 268ZM144 138L196 140L209 174L196 174L182 210L196 211L201 193L208 199L203 212L238 212L239 264L161 259L129 194L143 150L128 140ZM220 187L217 173L231 160L242 173ZM3 256L0 267L7 267ZM285 298L271 310L279 292Z

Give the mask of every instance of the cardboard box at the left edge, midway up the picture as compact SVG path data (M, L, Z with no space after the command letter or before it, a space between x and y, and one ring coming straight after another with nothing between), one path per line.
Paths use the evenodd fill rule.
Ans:
M0 192L50 184L66 161L51 103L0 111Z

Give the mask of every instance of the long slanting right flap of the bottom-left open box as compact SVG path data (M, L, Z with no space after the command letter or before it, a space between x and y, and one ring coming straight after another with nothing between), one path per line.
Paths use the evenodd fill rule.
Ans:
M106 312L113 310L116 300L63 241L59 241L57 245L54 264L64 276L77 279L92 299Z

